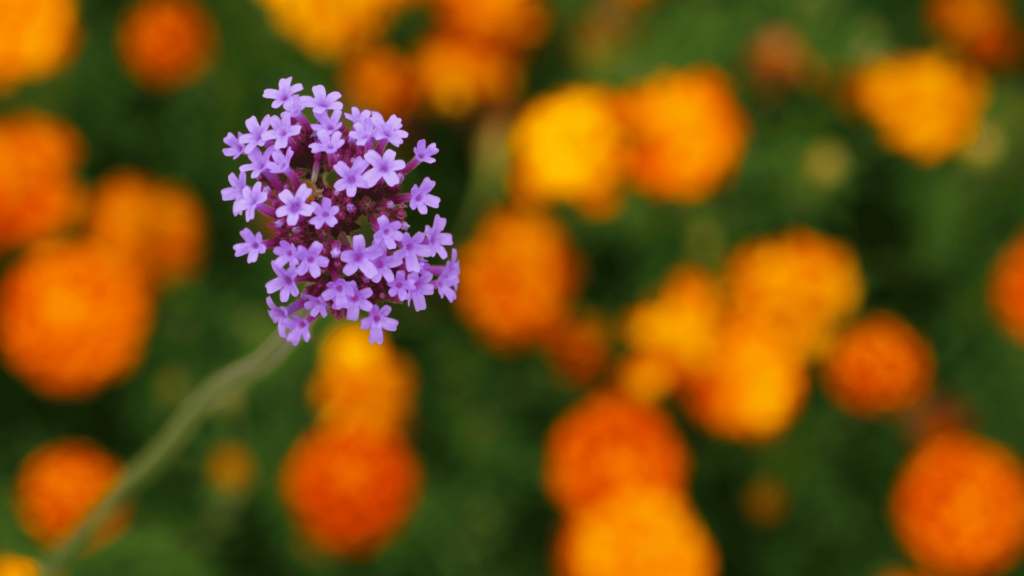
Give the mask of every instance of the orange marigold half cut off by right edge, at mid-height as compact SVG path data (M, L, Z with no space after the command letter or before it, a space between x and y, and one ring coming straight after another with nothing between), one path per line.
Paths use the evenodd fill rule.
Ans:
M1002 248L988 279L988 307L999 326L1024 345L1024 233Z

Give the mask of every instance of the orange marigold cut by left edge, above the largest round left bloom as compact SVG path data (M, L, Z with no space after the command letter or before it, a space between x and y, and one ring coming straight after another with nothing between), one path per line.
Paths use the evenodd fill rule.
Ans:
M84 149L74 125L48 114L0 118L0 252L55 232L77 215Z

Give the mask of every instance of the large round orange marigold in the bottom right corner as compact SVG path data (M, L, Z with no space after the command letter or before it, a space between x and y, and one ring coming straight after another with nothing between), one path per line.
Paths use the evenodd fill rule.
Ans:
M951 576L1005 574L1024 552L1024 465L982 436L939 434L903 462L889 515L918 564Z

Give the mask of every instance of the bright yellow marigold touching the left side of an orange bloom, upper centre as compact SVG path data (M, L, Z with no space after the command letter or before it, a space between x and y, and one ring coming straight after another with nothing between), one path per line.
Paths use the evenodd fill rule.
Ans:
M621 208L624 134L611 93L569 84L535 96L509 136L512 197L596 217Z

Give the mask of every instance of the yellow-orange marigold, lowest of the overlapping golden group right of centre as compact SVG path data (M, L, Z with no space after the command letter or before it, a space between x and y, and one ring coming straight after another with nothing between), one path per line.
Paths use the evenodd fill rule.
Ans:
M805 360L760 329L733 323L708 373L680 396L708 435L744 444L770 442L793 425L810 392Z

